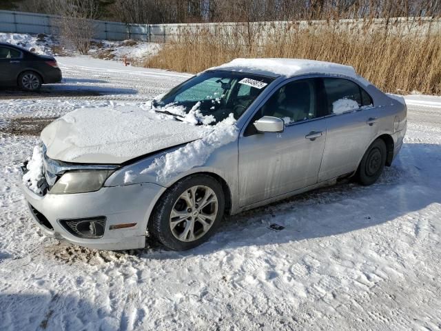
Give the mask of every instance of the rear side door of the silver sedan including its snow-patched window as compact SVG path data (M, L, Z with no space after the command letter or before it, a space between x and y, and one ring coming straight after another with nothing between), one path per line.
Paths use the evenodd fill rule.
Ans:
M323 78L327 94L327 137L318 181L356 170L376 134L376 112L369 94L356 82Z

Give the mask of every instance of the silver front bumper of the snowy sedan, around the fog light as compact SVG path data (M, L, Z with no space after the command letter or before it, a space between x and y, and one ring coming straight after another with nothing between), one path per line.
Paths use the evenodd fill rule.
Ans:
M48 237L99 250L127 250L145 246L145 231L155 197L163 189L154 183L101 188L81 194L35 194L24 185L23 194L34 223ZM105 217L103 237L77 237L60 220ZM46 221L48 223L46 223ZM137 223L110 230L110 225Z

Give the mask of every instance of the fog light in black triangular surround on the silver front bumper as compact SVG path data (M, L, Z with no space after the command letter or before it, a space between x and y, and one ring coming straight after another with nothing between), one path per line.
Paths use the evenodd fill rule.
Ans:
M75 237L94 239L101 238L104 235L105 217L61 219L59 223Z

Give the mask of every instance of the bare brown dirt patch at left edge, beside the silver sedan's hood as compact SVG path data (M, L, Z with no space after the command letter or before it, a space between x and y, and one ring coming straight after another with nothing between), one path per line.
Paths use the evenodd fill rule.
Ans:
M17 136L39 136L41 130L57 117L15 117L6 121L6 126L0 127L0 132Z

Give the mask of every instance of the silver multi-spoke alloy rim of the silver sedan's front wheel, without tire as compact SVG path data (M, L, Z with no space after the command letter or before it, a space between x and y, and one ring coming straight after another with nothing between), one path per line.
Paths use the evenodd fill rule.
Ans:
M204 236L218 214L218 197L205 185L185 190L170 212L170 229L179 241L195 241Z

